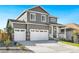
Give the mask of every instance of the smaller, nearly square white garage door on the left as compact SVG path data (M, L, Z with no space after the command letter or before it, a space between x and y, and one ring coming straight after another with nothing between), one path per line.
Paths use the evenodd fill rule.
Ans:
M14 29L14 41L25 41L26 29Z

